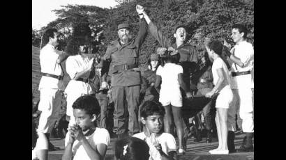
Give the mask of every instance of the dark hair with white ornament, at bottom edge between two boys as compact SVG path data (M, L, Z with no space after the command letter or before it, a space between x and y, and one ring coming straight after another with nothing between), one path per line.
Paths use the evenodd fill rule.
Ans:
M127 137L115 142L114 154L120 160L148 160L149 146L140 138Z

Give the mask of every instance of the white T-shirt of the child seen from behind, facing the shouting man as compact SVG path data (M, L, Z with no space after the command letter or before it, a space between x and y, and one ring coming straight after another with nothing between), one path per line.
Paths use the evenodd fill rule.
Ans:
M156 74L162 79L160 97L181 96L178 74L183 73L183 67L174 63L159 65ZM172 93L172 94L171 94Z

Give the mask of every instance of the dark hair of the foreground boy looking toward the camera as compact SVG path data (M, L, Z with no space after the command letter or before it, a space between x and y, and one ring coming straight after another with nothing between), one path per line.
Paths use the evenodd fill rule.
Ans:
M146 101L142 104L140 109L140 115L142 118L146 119L150 115L158 113L159 115L165 115L165 109L162 104L155 101Z

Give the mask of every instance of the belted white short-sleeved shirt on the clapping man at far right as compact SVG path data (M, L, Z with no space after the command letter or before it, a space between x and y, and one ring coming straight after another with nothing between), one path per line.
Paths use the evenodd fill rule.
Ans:
M233 89L238 88L253 88L253 65L254 65L254 49L249 42L242 41L237 43L231 50L234 56L239 58L245 67L232 64L232 72L249 71L251 74L240 75L230 78L230 86Z

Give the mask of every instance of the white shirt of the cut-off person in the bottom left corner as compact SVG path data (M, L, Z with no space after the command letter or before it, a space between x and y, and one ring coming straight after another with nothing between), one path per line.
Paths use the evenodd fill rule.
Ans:
M38 132L38 139L36 146L32 150L32 160L38 159L36 152L38 150L48 150L48 143L45 134Z

